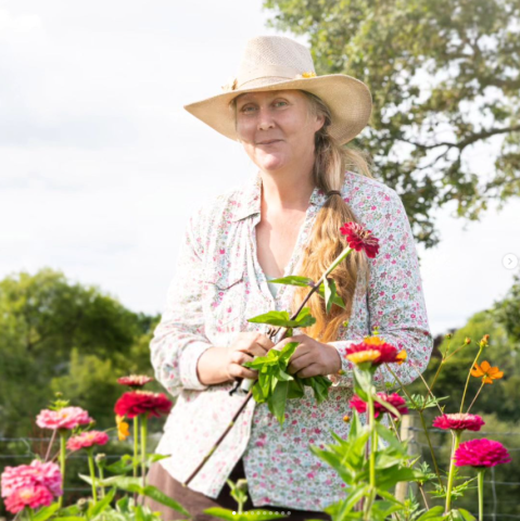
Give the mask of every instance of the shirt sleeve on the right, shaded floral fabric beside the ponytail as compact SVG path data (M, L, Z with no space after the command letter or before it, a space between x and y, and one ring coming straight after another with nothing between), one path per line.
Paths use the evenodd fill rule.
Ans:
M399 351L405 350L407 359L402 365L391 364L392 371L404 385L411 383L428 366L433 348L433 338L428 325L428 315L422 293L417 250L410 224L401 198L391 191L384 198L378 226L367 226L379 239L379 254L369 259L370 280L367 289L369 331L379 328L380 336ZM377 231L376 231L377 230ZM368 332L367 332L368 333ZM330 376L332 385L353 385L354 365L345 358L346 348L362 342L363 334L329 342L341 356L342 376ZM376 371L377 386L397 383L384 365Z

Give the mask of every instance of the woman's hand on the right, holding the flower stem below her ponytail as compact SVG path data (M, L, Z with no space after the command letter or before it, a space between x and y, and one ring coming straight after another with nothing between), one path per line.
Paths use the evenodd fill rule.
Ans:
M283 339L276 344L275 348L281 351L290 342L300 342L300 345L291 356L289 374L310 378L319 374L335 374L341 369L341 357L334 346L322 344L306 334L296 334Z

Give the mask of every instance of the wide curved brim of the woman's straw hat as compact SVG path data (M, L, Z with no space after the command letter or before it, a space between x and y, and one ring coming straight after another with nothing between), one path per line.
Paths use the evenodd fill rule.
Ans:
M320 98L330 109L330 134L340 143L354 139L368 124L372 98L368 87L352 76L329 74L313 78L269 81L268 85L243 87L185 105L185 109L227 138L238 140L230 102L244 92L299 89Z

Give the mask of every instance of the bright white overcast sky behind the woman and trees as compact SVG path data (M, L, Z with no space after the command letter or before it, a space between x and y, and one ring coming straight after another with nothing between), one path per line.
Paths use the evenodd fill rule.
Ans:
M276 34L261 5L0 0L0 277L49 266L162 312L193 208L255 170L182 105L220 91L248 38ZM518 200L466 230L453 211L441 244L418 246L435 334L504 296L518 268L503 258L520 257Z

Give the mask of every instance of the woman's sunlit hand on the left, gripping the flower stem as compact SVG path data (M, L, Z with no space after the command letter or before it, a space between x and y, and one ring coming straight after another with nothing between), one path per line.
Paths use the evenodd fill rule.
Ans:
M256 380L258 371L242 367L242 364L253 361L255 356L265 356L274 345L272 341L265 334L255 332L239 333L234 342L227 347L225 370L228 379L249 378Z

